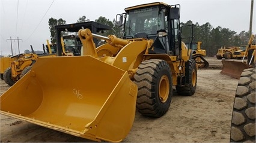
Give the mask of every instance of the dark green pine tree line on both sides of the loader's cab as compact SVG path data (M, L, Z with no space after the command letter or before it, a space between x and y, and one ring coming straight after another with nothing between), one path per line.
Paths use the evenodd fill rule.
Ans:
M80 17L76 23L81 22L89 22L90 19L87 19L86 16ZM121 36L122 31L121 28L115 25L116 21L106 19L106 17L100 16L99 19L94 20L94 22L102 23L108 26L111 26L111 30L106 31L105 33L99 33L99 35L108 36L110 34L114 34L117 37ZM49 29L50 29L50 41L52 43L56 42L56 32L55 32L55 25L66 25L66 20L63 19L49 19ZM193 23L191 20L187 21L186 23L181 22L181 37L189 37L193 34L193 41L202 41L203 44L201 48L206 50L207 56L215 56L218 48L221 47L240 47L241 45L248 44L249 31L242 31L239 34L237 32L232 31L228 28L222 28L218 26L217 28L213 28L213 26L207 22L203 25L199 25L198 23ZM185 25L193 25L193 31L191 27ZM65 33L63 33L65 35ZM184 41L189 42L190 39L185 39Z

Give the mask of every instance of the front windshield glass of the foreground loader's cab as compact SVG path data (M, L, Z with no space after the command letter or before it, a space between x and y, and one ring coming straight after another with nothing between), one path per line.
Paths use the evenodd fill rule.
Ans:
M157 6L130 10L127 14L124 36L146 38L148 34L156 34L156 31L165 28L163 19L163 11L159 13Z

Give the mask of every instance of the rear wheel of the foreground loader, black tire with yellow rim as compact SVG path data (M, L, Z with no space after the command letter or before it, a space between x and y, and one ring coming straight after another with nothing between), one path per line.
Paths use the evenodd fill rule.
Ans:
M194 59L188 61L189 69L185 69L187 72L186 83L184 86L177 85L176 90L178 95L191 96L194 95L195 90L197 89L197 64Z

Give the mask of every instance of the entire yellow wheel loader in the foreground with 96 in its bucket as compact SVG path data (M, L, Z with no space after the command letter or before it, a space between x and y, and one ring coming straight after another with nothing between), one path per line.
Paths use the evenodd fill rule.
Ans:
M0 113L93 141L120 142L135 110L159 118L174 89L194 95L198 67L181 41L180 5L136 5L118 18L120 38L80 29L83 56L39 58L0 96ZM106 44L96 48L93 38Z

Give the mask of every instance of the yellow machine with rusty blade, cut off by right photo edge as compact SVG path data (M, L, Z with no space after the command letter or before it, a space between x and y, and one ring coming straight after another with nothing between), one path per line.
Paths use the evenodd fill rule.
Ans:
M228 75L233 78L240 78L244 69L255 68L256 61L256 45L254 41L255 36L251 35L245 53L243 55L242 62L222 60L222 71L221 74ZM245 61L247 57L247 62Z

